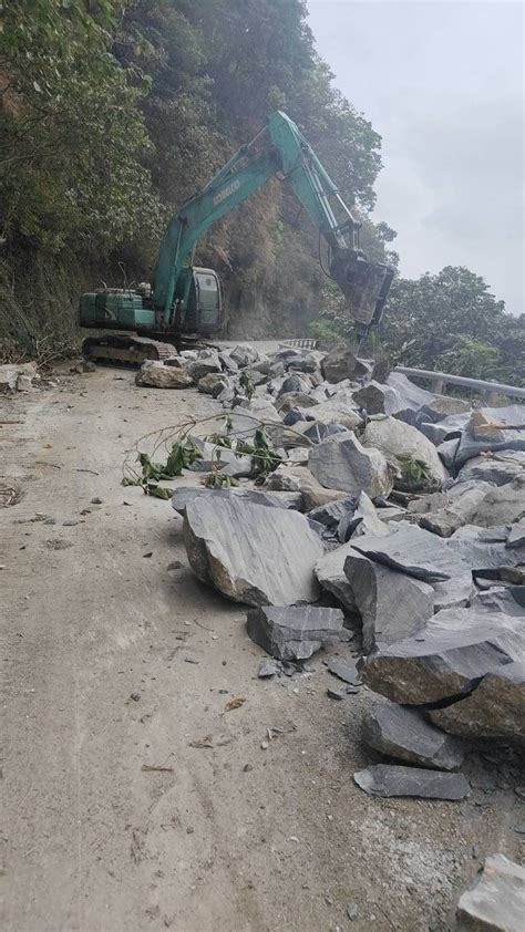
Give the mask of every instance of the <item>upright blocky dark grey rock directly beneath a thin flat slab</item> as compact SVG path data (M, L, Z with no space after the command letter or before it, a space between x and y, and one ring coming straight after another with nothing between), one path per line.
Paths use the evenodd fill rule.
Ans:
M342 548L340 548L342 549ZM336 563L339 551L334 550L316 566L316 573L322 587L332 591L339 589L346 596L347 604L359 612L362 620L363 651L370 653L377 645L392 644L420 631L434 612L434 590L419 579L395 572L381 563L368 560L356 549L347 549L343 568L350 587L348 594L339 578L330 588L319 567ZM330 583L330 579L328 582Z

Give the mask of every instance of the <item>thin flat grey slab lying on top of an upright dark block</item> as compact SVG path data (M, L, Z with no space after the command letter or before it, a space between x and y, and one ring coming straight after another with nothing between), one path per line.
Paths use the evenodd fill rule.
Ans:
M366 557L424 582L464 577L470 571L470 563L449 541L405 521L399 521L385 537L358 538L353 543Z

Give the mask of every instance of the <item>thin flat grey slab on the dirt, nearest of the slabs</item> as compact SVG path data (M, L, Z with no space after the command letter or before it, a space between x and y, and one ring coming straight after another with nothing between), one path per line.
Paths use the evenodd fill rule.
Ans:
M464 799L470 786L462 774L443 774L420 767L375 764L353 775L369 796L419 796L422 799Z

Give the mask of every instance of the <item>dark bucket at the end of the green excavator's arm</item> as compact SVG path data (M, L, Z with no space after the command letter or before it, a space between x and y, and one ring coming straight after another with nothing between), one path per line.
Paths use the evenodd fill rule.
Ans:
M330 275L344 294L361 341L369 328L381 320L393 269L382 262L369 262L360 249L337 249Z

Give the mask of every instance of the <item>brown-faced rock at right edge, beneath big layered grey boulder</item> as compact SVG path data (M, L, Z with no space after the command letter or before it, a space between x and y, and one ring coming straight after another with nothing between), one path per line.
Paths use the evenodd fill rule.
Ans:
M486 673L466 698L429 714L440 728L453 735L506 738L524 744L525 661L507 663Z

